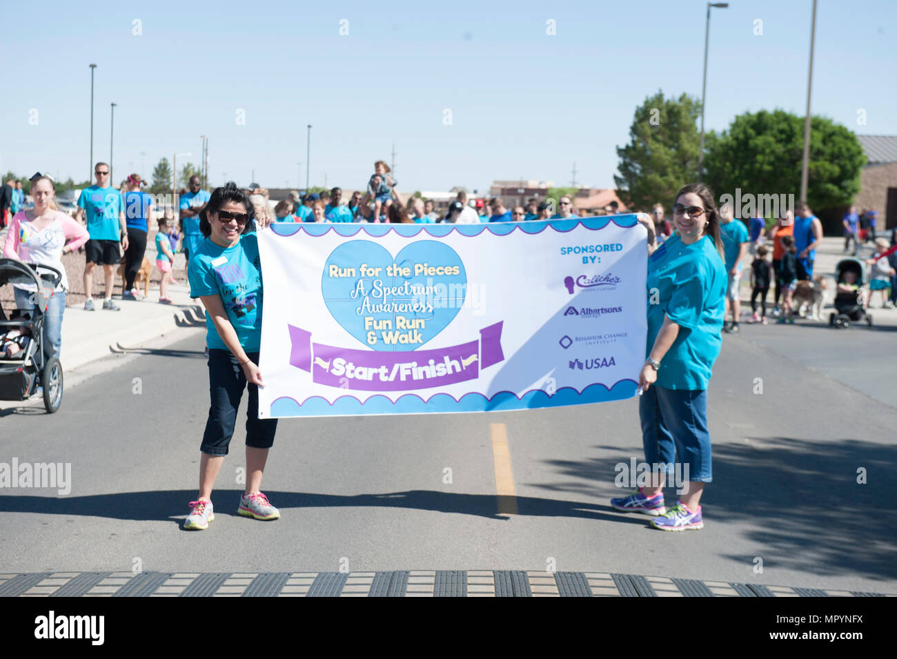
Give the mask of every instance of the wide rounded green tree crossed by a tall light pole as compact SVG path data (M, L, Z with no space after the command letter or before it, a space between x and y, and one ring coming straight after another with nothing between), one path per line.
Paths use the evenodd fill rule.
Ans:
M722 134L710 134L704 164L714 193L800 195L804 117L784 110L746 112ZM810 208L847 206L859 192L866 155L857 136L825 117L810 119L806 202Z

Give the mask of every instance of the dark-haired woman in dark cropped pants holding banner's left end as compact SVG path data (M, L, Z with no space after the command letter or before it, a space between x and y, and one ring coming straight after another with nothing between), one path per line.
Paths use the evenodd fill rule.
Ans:
M184 528L202 530L214 519L212 488L221 471L233 436L237 409L248 389L246 421L246 490L239 515L278 519L280 513L259 491L268 449L274 445L276 419L258 419L258 370L262 334L262 274L253 223L255 208L232 181L215 188L199 230L205 239L190 253L187 277L190 297L205 307L206 344L209 351L209 389L212 405L199 447L199 496L190 502ZM258 228L270 218L259 217Z

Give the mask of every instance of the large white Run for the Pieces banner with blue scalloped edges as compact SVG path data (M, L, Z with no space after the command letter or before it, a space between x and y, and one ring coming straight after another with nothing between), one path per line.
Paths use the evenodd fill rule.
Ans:
M635 395L635 215L276 223L258 236L259 417L482 412Z

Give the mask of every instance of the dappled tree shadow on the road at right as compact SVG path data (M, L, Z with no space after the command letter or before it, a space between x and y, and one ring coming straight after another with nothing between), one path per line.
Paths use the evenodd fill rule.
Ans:
M746 438L748 443L713 447L713 483L701 500L705 522L741 525L734 545L753 544L749 551L767 567L779 566L815 575L897 575L897 513L891 484L897 471L897 446L861 439L819 441L796 438ZM614 487L614 465L629 464L620 447L614 457L547 461L558 473L580 479L532 487L594 496ZM643 460L643 455L635 455ZM859 469L866 483L858 483ZM628 491L628 490L627 490ZM665 490L667 504L675 490ZM594 507L593 507L594 508ZM736 554L725 558L752 560Z

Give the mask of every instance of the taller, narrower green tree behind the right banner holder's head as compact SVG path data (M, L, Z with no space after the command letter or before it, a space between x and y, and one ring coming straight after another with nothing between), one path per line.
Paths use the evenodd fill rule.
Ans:
M670 204L676 191L698 178L698 126L701 102L682 94L665 99L663 91L635 108L631 142L617 148L617 195L636 210Z

